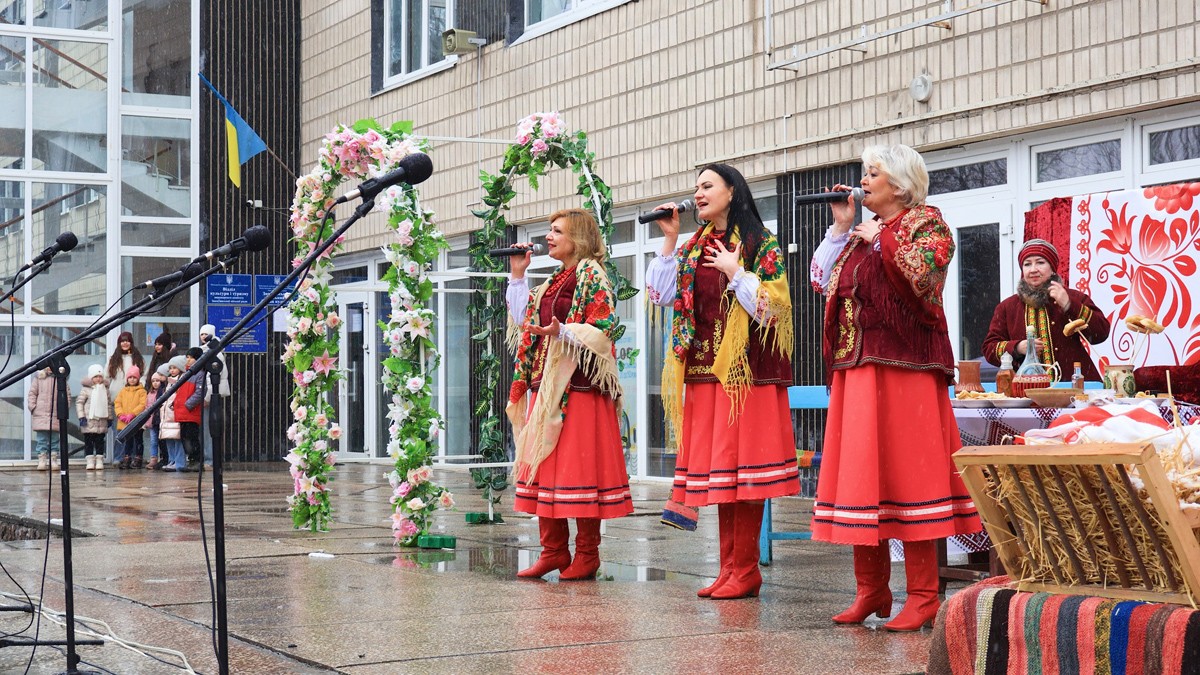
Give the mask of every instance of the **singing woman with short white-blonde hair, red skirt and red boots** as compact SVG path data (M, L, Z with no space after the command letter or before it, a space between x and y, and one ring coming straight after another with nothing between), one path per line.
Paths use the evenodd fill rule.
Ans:
M832 372L812 538L854 546L857 593L835 623L892 615L887 542L904 542L908 596L884 628L918 631L940 604L937 539L982 528L950 460L961 443L942 289L954 238L924 203L929 173L916 150L868 148L863 167L875 217L856 226L853 198L830 203L834 225L810 268L827 295Z

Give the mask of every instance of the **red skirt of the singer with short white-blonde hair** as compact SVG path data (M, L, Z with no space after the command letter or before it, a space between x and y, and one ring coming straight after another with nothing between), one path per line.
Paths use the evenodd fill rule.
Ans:
M961 446L940 372L834 371L812 538L874 545L980 531L950 459Z

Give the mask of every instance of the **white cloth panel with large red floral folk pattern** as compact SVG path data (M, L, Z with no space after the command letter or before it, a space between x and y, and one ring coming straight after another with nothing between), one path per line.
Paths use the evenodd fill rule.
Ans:
M1073 207L1070 283L1114 319L1109 340L1092 347L1097 360L1200 363L1200 183L1087 195ZM1120 321L1138 313L1166 330L1140 346L1145 336Z

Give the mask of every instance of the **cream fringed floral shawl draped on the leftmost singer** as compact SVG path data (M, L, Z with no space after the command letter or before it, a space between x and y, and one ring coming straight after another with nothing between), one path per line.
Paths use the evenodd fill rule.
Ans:
M612 286L604 267L593 259L581 261L571 270L559 269L551 279L530 293L526 307L527 325L538 325L541 299L560 274L576 275L571 309L560 329L568 334L559 338L541 338L528 329L520 330L516 369L505 413L512 423L516 442L514 474L528 483L538 473L538 467L554 452L563 431L563 418L568 386L576 369L601 392L612 396L620 407L620 381L613 351L611 330L616 327ZM550 340L541 371L538 399L529 410L529 384L533 381L533 362L539 340ZM528 414L527 412L528 411Z

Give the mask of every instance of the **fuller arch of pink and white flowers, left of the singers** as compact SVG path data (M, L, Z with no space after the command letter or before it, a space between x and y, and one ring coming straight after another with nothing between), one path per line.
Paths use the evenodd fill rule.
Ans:
M338 126L325 136L317 166L296 180L292 204L292 233L296 244L293 265L299 265L335 229L330 209L334 192L344 180L365 180L395 168L403 157L420 151L412 125L389 129L374 120ZM428 309L433 283L426 271L446 247L431 211L421 208L416 190L389 187L378 197L388 213L395 240L384 246L391 263L384 281L391 312L379 322L389 352L383 360L388 396L388 453L395 460L388 473L391 485L391 530L400 545L413 545L428 531L433 510L454 506L452 495L433 480L430 458L443 429L433 407L430 374L438 365L432 339L433 312ZM340 378L337 298L331 288L332 257L337 241L323 253L296 288L288 310L288 338L282 362L292 370L295 388L288 428L287 454L294 478L288 507L296 528L328 530L332 516L330 483L336 455L331 443L342 436L334 419L330 396Z

